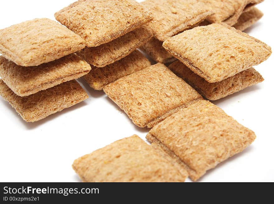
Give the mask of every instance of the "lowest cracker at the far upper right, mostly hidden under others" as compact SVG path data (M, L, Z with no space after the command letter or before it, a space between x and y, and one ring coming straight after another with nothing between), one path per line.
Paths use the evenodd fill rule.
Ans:
M263 16L262 11L256 7L251 8L249 11L242 13L237 23L233 25L237 30L245 30L260 20Z

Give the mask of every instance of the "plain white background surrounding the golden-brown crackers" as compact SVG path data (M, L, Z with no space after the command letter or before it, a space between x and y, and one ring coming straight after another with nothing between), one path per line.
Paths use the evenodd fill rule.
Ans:
M1 1L0 29L34 18L54 20L54 13L72 2ZM246 32L274 48L274 1L265 0L257 7L265 15ZM252 129L257 138L199 181L274 181L273 64L272 55L255 67L265 79L261 84L213 102ZM71 168L74 159L132 134L145 139L149 129L135 126L102 91L79 82L89 99L35 123L26 123L0 98L1 182L77 182L80 179Z

